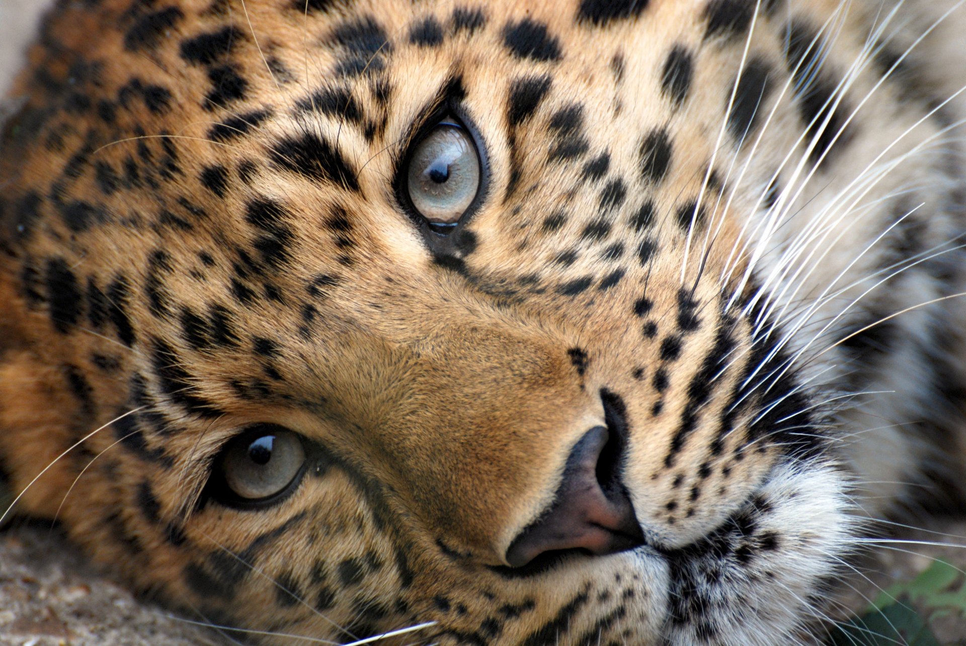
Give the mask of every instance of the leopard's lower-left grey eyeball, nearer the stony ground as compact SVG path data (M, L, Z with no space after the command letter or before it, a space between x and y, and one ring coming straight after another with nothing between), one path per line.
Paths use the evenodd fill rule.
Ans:
M305 448L298 435L259 424L231 439L217 466L227 490L240 502L268 502L290 490L304 465Z

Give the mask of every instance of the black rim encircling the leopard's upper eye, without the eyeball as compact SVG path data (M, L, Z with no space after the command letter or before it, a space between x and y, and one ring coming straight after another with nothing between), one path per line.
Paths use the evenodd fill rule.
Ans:
M473 196L467 210L463 211L459 221L447 227L434 226L429 223L412 204L408 186L408 170L416 147L422 143L430 132L441 125L458 126L466 132L480 164L479 186L476 188L476 195ZM400 210L412 220L423 238L434 247L447 246L447 242L453 238L452 234L466 226L472 216L487 201L490 192L490 163L486 150L486 142L480 135L479 128L469 118L466 110L456 101L444 101L439 107L428 113L426 118L421 120L413 130L406 152L399 157L399 162L396 164L393 185L395 186L396 201Z

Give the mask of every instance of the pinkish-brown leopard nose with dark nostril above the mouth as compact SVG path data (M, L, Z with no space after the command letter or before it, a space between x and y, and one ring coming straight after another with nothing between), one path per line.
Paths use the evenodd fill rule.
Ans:
M554 502L510 544L506 562L522 567L548 552L611 554L643 544L634 507L620 484L621 440L606 427L574 445Z

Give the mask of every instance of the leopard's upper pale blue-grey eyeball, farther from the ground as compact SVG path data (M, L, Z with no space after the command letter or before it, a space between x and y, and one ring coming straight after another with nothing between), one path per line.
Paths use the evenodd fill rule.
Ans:
M440 122L410 157L407 188L412 206L430 224L455 225L480 185L480 159L462 126Z

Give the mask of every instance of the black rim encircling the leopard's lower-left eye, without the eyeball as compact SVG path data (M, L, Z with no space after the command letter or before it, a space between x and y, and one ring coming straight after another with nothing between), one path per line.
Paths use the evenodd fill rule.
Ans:
M296 439L301 443L302 452L305 454L305 460L298 467L295 475L289 481L285 487L271 495L265 496L264 498L245 498L236 492L232 491L232 488L228 485L226 478L222 472L221 465L224 463L225 456L231 449L235 442L248 441L255 439L256 437L261 437L263 435L270 435L270 432L274 430L276 433L286 433L295 435ZM205 488L202 490L201 497L204 500L212 500L223 507L228 507L230 509L236 509L239 511L262 511L270 507L275 507L281 504L286 499L288 499L293 493L298 490L299 485L301 485L302 480L305 478L305 474L308 472L309 464L314 462L315 454L314 446L309 442L303 435L300 435L289 429L288 427L281 426L280 424L272 424L270 422L249 424L243 427L238 433L228 437L222 444L221 449L213 457L211 468L209 469L208 482Z

